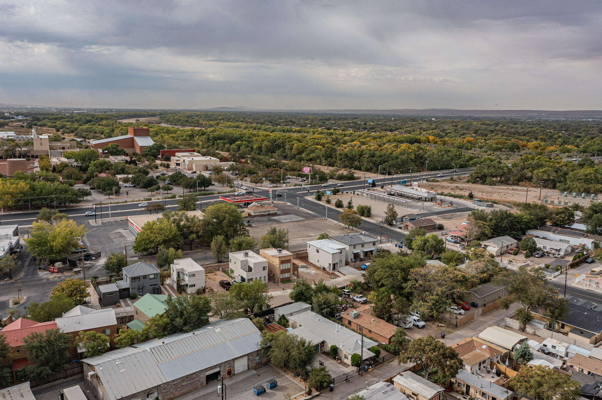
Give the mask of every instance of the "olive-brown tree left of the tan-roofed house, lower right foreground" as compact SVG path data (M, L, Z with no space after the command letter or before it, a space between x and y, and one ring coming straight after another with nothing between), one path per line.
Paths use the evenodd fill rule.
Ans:
M458 374L464 363L458 353L434 336L423 336L414 339L405 353L399 355L403 363L422 363L424 378L428 379L431 369L436 368L439 378L449 380Z

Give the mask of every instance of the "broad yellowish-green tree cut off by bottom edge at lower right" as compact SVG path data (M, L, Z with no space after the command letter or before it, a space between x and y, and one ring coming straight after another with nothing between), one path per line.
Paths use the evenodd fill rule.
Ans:
M581 395L579 382L541 365L521 366L509 387L534 400L577 400Z

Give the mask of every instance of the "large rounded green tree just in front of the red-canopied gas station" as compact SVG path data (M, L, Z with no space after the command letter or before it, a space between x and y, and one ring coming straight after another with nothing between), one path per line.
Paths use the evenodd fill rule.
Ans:
M243 214L235 205L219 202L203 208L203 213L205 216L201 221L201 228L206 243L211 243L217 235L223 235L227 240L240 235L249 235L244 225Z

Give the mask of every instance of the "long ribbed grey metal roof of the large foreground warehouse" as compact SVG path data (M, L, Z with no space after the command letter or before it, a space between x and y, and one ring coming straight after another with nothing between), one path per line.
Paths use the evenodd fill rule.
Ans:
M248 318L234 318L108 351L82 362L93 366L108 399L117 400L243 357L256 351L258 342L261 333L255 325Z

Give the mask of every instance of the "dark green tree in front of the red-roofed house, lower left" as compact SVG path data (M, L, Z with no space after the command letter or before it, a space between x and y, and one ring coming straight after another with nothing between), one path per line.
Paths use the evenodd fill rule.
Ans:
M29 380L45 380L63 371L69 363L71 336L60 329L32 332L23 339L23 350L29 362L21 371Z

